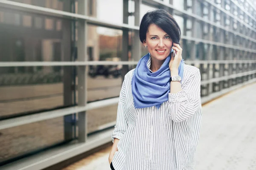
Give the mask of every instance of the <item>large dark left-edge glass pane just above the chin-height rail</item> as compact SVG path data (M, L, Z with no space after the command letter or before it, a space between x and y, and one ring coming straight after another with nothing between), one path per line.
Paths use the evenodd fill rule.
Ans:
M70 61L67 54L71 52L66 51L64 56L62 51L71 45L71 20L24 14L20 16L23 22L14 25L10 20L15 11L1 13L4 20L0 24L4 33L0 33L0 43L5 46L2 48L5 53L1 51L1 54L6 59L1 57L0 61Z

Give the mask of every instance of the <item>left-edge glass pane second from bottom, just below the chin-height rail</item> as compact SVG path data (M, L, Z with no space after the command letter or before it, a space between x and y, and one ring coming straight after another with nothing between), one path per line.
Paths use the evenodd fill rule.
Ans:
M72 105L70 68L7 67L0 70L0 119ZM64 88L69 91L64 93ZM69 98L70 103L64 102Z

